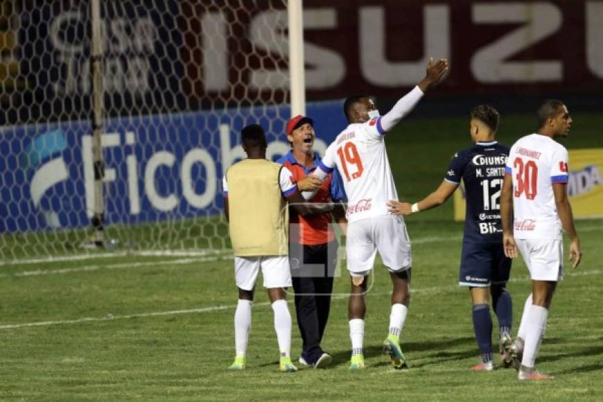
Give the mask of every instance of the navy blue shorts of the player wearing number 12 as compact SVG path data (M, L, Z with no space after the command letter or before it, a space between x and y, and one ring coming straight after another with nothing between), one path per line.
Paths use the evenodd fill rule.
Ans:
M511 259L505 256L502 243L465 243L461 255L460 286L486 287L507 283Z

